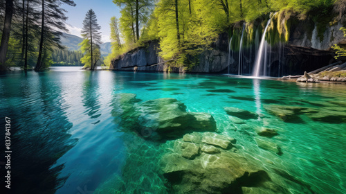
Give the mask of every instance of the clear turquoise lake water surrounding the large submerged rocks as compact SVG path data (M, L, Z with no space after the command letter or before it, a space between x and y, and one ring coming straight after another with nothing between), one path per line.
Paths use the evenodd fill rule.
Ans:
M12 122L12 192L172 193L158 164L174 139L129 130L124 93L136 94L137 107L175 98L187 112L211 114L217 133L237 139L237 154L286 193L346 191L346 85L56 67L0 76L1 116ZM302 111L286 120L268 105ZM232 122L224 107L259 116ZM260 137L263 127L279 135ZM260 148L258 138L282 153Z

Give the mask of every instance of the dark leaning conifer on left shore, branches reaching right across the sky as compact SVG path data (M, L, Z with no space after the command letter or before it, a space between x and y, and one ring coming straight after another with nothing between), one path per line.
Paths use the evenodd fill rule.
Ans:
M42 0L41 37L39 40L39 56L37 58L35 71L40 71L44 68L44 61L46 60L42 58L42 53L44 57L48 56L44 49L51 51L52 45L62 48L60 45L60 36L62 33L57 30L60 29L67 32L64 24L64 21L67 19L64 15L66 10L60 8L62 3L75 6L75 2L72 0Z

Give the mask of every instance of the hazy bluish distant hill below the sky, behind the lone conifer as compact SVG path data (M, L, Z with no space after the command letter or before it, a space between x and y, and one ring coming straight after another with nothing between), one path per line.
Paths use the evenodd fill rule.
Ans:
M66 46L69 49L69 51L78 51L78 49L80 48L78 44L80 44L83 41L83 39L75 35L62 33L60 41L62 42L62 45ZM111 53L110 42L104 42L100 45L100 48L102 56L107 56L109 53Z

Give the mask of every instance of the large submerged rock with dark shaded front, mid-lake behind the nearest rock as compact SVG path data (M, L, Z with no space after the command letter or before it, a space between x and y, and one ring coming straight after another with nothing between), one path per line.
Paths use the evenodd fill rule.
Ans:
M137 111L140 113L138 123L151 129L154 139L176 139L192 131L217 130L210 114L186 112L186 106L174 98L147 100L138 106Z

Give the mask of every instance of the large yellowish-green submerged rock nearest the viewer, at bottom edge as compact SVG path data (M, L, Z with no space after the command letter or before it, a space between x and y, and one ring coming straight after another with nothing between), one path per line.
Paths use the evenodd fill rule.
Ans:
M218 139L221 142L230 139L228 136L210 132L199 134L204 140L212 138L213 141ZM191 136L186 136L188 137L191 139ZM181 148L186 149L190 146L192 147L184 145ZM268 174L252 161L231 150L221 150L203 143L200 146L201 155L195 155L194 159L186 159L175 148L167 148L175 151L168 152L161 158L158 164L159 170L167 179L167 186L172 188L173 193L238 193L244 186L260 188L267 193L286 193L284 188L271 182Z

